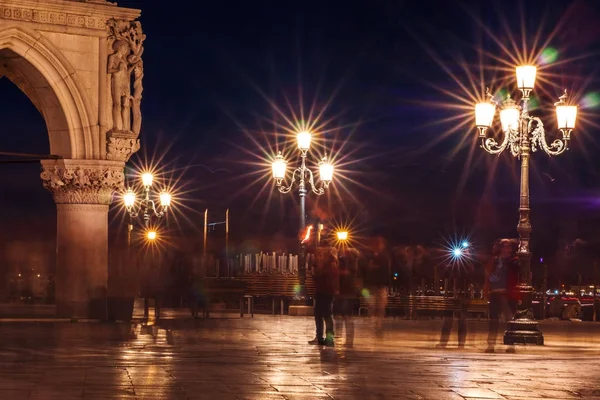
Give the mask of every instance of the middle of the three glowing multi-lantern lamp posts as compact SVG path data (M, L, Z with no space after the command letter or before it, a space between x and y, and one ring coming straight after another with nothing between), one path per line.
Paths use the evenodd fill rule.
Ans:
M292 174L292 179L289 185L286 185L284 180L287 172L287 161L279 152L272 163L273 178L277 184L279 192L285 194L289 193L294 185L298 185L298 194L300 196L300 232L303 232L306 228L306 194L308 190L318 196L325 194L325 190L329 187L333 179L333 164L328 160L327 156L323 157L319 162L319 178L320 184L315 183L313 172L306 166L306 158L308 151L310 150L310 144L312 141L312 133L308 131L301 131L296 134L296 143L298 150L300 150L301 164L296 168ZM300 262L298 266L298 275L300 278L300 286L304 290L304 283L306 279L306 265L305 265L305 247L300 244Z

